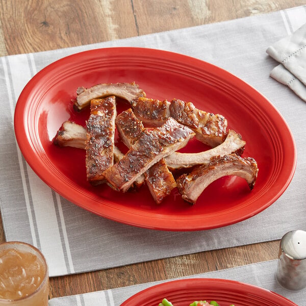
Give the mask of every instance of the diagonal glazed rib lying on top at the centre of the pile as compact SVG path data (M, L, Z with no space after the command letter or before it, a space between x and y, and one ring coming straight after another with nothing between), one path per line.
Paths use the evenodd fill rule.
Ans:
M124 157L103 174L115 190L125 192L152 165L184 147L194 132L173 118L154 130L144 130Z

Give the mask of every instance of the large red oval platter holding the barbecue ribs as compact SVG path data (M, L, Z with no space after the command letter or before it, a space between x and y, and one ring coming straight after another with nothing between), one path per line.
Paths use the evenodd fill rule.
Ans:
M180 98L223 115L246 141L243 156L257 160L257 183L249 191L236 176L212 183L190 206L175 188L156 205L146 186L120 193L86 181L85 150L53 144L65 120L85 125L89 112L74 112L77 88L136 82L147 97ZM124 102L120 111L129 108ZM60 195L92 213L156 230L195 231L233 224L269 207L290 184L296 148L281 114L258 91L207 62L156 49L93 49L60 59L38 72L21 92L14 117L20 150L40 178ZM201 151L192 140L183 149Z

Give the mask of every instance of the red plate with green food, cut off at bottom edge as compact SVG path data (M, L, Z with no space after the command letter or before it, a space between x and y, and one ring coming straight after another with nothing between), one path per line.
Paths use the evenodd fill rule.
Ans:
M144 289L120 306L157 306L163 298L173 306L189 306L199 300L215 300L220 306L297 306L272 291L219 278L187 278Z

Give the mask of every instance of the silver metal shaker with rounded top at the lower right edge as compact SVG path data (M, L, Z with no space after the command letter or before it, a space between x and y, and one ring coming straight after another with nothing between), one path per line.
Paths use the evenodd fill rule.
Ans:
M291 231L283 236L275 276L288 290L299 291L306 287L306 232Z

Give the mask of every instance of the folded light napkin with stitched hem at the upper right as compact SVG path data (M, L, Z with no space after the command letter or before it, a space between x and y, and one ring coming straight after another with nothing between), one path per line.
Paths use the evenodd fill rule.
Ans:
M277 62L270 76L289 86L306 101L306 23L293 34L269 46L266 52Z

